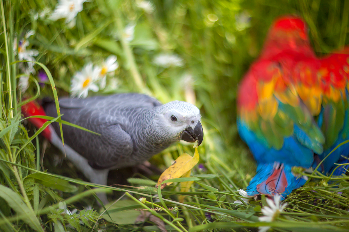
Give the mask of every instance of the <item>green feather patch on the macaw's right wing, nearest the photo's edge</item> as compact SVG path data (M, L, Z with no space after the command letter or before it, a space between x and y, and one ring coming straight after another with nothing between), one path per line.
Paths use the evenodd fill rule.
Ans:
M324 131L326 137L326 148L331 147L337 141L338 135L343 129L344 117L345 107L343 101L330 101L324 106L322 131Z

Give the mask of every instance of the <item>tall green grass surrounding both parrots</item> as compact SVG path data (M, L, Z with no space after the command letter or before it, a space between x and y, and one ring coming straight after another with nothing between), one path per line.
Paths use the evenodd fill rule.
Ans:
M285 200L285 213L271 223L258 219L267 205L265 198L233 203L240 200L237 190L247 186L255 168L237 134L236 89L258 57L269 25L281 14L302 16L315 51L325 54L349 42L348 0L156 0L149 11L139 7L141 1L93 0L83 3L72 28L64 19L41 17L45 7L54 9L55 0L0 2L0 231L160 231L162 226L168 231L255 231L266 225L277 231L348 231L348 176L302 173L312 180ZM125 33L128 25L135 25L131 41ZM22 93L18 82L28 64L18 62L13 47L29 30L35 34L27 49L38 50L38 56L36 73L30 74L29 87ZM182 60L163 66L155 62L159 54ZM109 55L117 56L119 68L108 77L105 89L90 96L132 91L164 103L189 101L200 108L205 141L199 147L201 165L192 177L174 180L163 191L148 179L156 181L156 175L138 174L135 177L141 178L124 181L127 186L94 189L97 185L83 181L69 162L53 164L59 156L54 148L46 149L40 164L47 146L39 142L43 128L23 126L23 99L50 96L57 101L67 96L76 72ZM39 85L41 70L48 76L44 85ZM114 77L118 87L108 88ZM59 117L47 119L45 126L61 122ZM192 154L193 149L178 143L151 162L163 168L183 152ZM110 182L116 183L123 173L113 174ZM181 192L179 181L194 183L190 191ZM117 202L107 211L94 210L98 191L112 192L110 200ZM184 202L179 200L183 196ZM135 209L147 209L154 217ZM142 212L144 218L133 224Z

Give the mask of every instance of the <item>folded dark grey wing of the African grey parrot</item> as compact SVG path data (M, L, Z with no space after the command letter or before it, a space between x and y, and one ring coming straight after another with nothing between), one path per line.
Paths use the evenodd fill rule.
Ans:
M161 105L155 98L140 94L119 94L86 99L60 99L62 120L74 123L101 134L101 136L62 125L65 143L89 160L94 168L128 166L133 152L131 136L125 132L130 113L134 109L153 108ZM124 111L127 112L124 112ZM137 110L136 110L137 111ZM47 115L57 117L54 104L48 104ZM52 124L60 135L59 124Z

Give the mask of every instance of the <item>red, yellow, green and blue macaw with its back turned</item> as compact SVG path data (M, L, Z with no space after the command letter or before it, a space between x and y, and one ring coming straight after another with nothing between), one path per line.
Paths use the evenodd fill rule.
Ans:
M335 57L344 62L342 56ZM333 74L327 73L330 80L326 83L322 80L330 67L326 64L310 47L302 19L286 16L275 21L260 57L251 65L238 91L238 131L258 165L247 187L248 195L287 196L306 181L306 177L292 173L292 168L310 168L316 163L314 155L319 157L315 159L318 162L330 147L342 141L339 137L346 136L345 68L343 72L333 68L342 74L336 78L345 82L345 87L333 86ZM347 61L343 65L348 65ZM326 88L332 91L327 98ZM336 103L332 103L338 92L344 94L336 95ZM341 116L336 114L338 111ZM342 129L334 132L329 128L339 124L331 117L339 117ZM337 161L334 157L326 165L333 166Z

